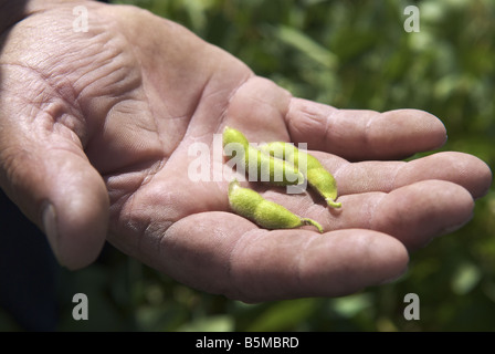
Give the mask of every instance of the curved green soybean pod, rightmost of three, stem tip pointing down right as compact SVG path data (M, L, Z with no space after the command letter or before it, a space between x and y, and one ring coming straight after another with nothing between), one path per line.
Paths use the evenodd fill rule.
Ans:
M268 143L260 147L265 154L283 158L294 164L305 175L307 183L318 194L325 198L328 206L333 208L340 208L341 202L336 202L337 199L337 183L334 176L322 166L318 159L310 154L303 153L292 144L284 142ZM306 162L306 169L301 169L299 162Z

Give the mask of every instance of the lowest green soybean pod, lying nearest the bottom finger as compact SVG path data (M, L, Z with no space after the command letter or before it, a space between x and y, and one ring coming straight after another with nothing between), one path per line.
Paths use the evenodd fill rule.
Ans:
M265 229L293 229L312 225L323 232L315 220L302 218L285 207L264 199L259 192L240 186L238 180L229 185L229 204L232 210Z

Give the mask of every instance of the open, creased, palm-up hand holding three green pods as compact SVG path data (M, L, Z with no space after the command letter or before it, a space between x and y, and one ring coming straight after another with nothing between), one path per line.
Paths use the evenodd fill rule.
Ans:
M107 239L233 299L344 295L399 277L408 251L464 225L488 189L491 171L474 156L391 160L445 142L425 112L294 98L149 12L53 3L30 2L29 17L3 32L0 184L70 269L89 264ZM88 32L73 31L76 4L88 10ZM308 144L336 177L341 210L310 192L251 187L326 233L260 229L230 211L229 180L191 181L189 147L213 149L225 125L252 142Z

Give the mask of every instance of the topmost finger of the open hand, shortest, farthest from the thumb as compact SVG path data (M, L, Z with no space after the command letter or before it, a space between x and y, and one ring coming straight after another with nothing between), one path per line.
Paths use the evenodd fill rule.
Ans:
M337 110L292 98L285 119L292 142L349 160L401 159L446 140L442 122L419 110Z

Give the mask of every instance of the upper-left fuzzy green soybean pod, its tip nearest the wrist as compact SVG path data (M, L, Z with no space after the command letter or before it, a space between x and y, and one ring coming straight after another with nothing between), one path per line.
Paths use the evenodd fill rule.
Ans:
M256 169L256 180L277 186L299 185L304 181L304 175L293 164L263 154L252 147L241 132L225 126L223 129L223 148L229 144L239 144L235 152L241 152L242 156L239 157L244 159L246 173L251 174L253 168Z

